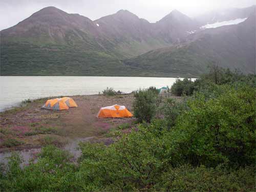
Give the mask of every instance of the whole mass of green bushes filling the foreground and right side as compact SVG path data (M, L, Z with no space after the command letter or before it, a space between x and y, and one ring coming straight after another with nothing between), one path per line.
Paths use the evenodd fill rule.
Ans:
M51 145L23 169L14 154L1 173L3 190L255 191L256 77L220 71L217 83L212 72L179 81L194 90L178 101L157 104L152 89L138 90L134 114L141 123L130 134L120 125L108 146L80 143L77 164Z

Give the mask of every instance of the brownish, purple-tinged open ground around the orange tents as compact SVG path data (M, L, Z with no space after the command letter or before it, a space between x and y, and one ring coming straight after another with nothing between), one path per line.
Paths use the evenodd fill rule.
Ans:
M24 103L23 106L0 113L0 152L63 145L77 138L94 137L108 140L108 132L121 127L131 130L135 118L104 118L96 115L103 106L125 105L132 111L134 97L130 95L71 96L77 108L64 111L41 109L48 98Z

